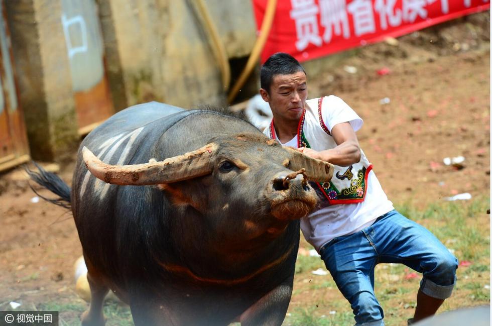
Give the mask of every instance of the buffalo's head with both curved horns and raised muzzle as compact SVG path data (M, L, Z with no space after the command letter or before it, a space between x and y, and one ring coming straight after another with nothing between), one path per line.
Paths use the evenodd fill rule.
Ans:
M82 154L97 178L159 185L175 205L207 216L216 235L225 238L234 237L231 230L241 230L242 239L282 232L317 203L307 181L326 182L333 174L331 164L258 134L214 137L192 152L144 164L108 165L87 148Z

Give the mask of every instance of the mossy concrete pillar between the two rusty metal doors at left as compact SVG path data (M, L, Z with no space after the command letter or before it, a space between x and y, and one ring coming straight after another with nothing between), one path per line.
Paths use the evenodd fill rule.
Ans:
M32 158L63 161L77 148L77 123L61 3L5 4Z

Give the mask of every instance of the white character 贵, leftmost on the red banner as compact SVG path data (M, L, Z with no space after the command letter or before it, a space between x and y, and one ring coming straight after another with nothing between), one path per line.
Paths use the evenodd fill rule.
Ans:
M296 21L297 42L296 48L304 50L309 43L321 46L323 41L318 31L318 7L314 0L291 0L292 10L290 17Z

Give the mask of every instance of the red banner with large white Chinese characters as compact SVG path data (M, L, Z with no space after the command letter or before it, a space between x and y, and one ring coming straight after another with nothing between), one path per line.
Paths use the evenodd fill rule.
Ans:
M253 0L258 28L267 3ZM276 52L311 60L488 9L489 0L278 0L262 62Z

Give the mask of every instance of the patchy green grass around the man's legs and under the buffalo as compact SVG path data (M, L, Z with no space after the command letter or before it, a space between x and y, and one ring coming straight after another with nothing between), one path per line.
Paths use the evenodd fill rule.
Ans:
M419 209L410 203L397 205L397 209L408 218L422 224L433 232L460 261L471 265L460 266L458 282L451 298L439 310L453 310L460 307L489 304L490 261L489 225L486 210L488 197L476 197L462 202L439 202ZM304 239L301 247L312 249ZM284 326L344 326L354 323L348 302L338 291L330 274L317 276L311 271L323 268L319 257L299 256L293 296ZM406 325L413 315L420 275L406 279L412 270L400 264L376 266L375 291L388 325ZM39 310L60 311L60 325L79 325L80 314L88 307L81 299L68 303L49 303ZM104 307L107 326L133 325L128 306L106 302ZM234 325L239 325L235 323Z

